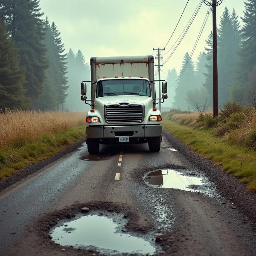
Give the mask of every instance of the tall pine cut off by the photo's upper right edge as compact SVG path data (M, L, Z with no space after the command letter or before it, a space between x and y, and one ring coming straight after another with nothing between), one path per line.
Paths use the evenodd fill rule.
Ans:
M243 82L247 81L248 73L256 65L256 1L246 0L244 5L244 17L241 18L244 26L241 30L243 41L240 64L240 79Z

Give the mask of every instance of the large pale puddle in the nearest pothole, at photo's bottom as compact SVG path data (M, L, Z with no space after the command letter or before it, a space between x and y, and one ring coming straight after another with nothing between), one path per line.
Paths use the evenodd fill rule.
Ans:
M107 216L85 215L63 222L61 226L55 227L50 235L55 243L62 246L94 249L112 255L119 253L151 255L156 252L156 248L149 241L123 233L120 222L123 226L124 221L116 221Z

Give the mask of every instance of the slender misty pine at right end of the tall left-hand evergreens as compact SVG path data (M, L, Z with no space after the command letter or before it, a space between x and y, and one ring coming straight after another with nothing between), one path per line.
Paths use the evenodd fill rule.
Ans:
M60 32L57 29L57 26L54 22L52 22L51 26L52 35L54 38L55 51L54 51L54 65L52 65L52 73L54 77L54 81L57 87L58 93L58 104L62 104L65 102L67 97L66 90L68 86L67 84L67 54L64 53L64 44L62 43Z

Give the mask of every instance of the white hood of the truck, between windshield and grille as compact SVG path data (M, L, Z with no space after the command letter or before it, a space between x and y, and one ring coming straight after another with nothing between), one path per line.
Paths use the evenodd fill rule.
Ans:
M137 95L118 95L118 96L105 96L95 99L95 105L103 108L105 104L118 104L121 102L128 103L143 103L145 106L151 104L152 98L147 96L137 96Z

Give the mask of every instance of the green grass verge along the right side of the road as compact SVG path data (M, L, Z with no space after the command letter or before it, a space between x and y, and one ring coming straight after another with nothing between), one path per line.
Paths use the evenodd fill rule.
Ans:
M248 183L248 189L256 191L256 151L215 137L212 129L199 130L173 121L164 121L163 126L193 151L214 161L224 171L240 177L242 183Z

